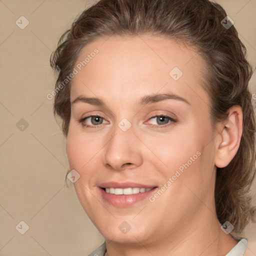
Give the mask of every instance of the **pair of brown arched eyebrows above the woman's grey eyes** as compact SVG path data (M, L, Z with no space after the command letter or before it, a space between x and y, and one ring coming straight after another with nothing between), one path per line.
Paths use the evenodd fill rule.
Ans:
M191 105L185 98L182 98L176 94L172 93L163 93L163 94L152 94L152 95L145 95L140 98L139 101L139 106L144 106L150 103L156 103L165 99L175 99L175 100L180 100L183 101L189 105ZM100 98L93 98L93 97L86 97L83 95L80 95L76 97L71 104L77 103L77 102L84 102L92 105L97 105L97 106L103 106L106 107L106 104L101 100Z

